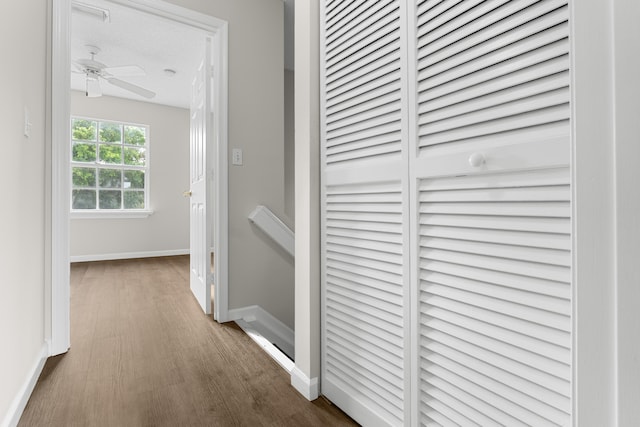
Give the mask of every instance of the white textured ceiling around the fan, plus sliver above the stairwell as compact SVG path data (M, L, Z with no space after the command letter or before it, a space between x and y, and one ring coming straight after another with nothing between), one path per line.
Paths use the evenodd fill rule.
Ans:
M107 0L81 0L74 4L91 5L109 11L109 20L73 12L71 17L71 59L89 58L86 45L101 49L95 60L108 67L138 65L145 76L119 77L121 80L156 92L146 99L100 81L105 95L189 108L191 80L204 50L204 33L192 27L130 9ZM284 0L285 64L293 69L293 4ZM165 69L176 74L167 76ZM72 67L73 69L73 67ZM71 74L71 88L84 91L84 74Z

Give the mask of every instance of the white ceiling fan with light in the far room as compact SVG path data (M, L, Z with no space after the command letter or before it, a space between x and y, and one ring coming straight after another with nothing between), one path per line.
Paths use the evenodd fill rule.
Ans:
M132 83L126 82L116 78L126 76L144 76L146 73L142 68L137 65L125 65L120 67L107 67L102 62L96 61L95 56L100 53L100 48L93 45L87 45L87 50L91 59L81 58L77 61L73 61L73 67L75 73L81 73L86 76L86 91L85 94L88 97L102 96L102 88L100 87L100 79L106 80L114 86L118 86L122 89L136 93L145 98L153 98L156 96L155 92L148 89L136 86Z

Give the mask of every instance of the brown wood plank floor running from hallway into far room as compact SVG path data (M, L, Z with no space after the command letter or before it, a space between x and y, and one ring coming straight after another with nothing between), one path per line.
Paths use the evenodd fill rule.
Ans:
M188 256L73 264L71 350L19 426L350 426L234 323L200 311Z

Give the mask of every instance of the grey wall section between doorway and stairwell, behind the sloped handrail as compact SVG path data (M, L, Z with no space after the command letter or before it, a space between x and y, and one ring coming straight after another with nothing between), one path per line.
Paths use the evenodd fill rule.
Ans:
M250 224L262 204L284 214L282 0L170 0L229 23L229 308L260 305L293 328L293 259ZM231 159L229 158L229 164Z

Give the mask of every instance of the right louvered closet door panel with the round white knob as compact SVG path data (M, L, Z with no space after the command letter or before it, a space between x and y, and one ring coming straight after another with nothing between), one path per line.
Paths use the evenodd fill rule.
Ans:
M571 423L567 1L418 1L421 425Z

